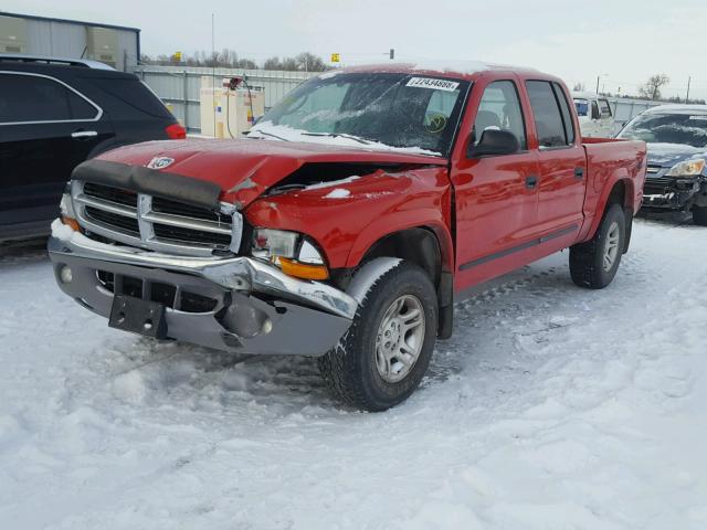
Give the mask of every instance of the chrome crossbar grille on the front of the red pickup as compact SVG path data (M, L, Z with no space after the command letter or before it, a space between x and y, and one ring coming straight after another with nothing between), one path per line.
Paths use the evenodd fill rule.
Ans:
M241 246L243 218L230 204L217 212L83 181L72 182L72 199L82 226L128 245L190 256L238 254Z

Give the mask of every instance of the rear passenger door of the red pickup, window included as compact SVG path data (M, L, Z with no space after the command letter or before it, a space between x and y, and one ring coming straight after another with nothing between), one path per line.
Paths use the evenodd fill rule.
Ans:
M559 83L527 81L538 138L538 229L541 234L579 230L584 204L587 155Z

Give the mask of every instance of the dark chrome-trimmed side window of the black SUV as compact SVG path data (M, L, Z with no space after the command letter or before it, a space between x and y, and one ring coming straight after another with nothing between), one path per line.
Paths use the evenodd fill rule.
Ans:
M61 83L0 74L0 124L95 119L98 110Z

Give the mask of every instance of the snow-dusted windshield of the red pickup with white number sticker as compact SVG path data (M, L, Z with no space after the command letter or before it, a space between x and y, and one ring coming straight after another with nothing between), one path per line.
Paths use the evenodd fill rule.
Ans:
M287 94L249 137L449 156L468 86L401 73L327 73Z

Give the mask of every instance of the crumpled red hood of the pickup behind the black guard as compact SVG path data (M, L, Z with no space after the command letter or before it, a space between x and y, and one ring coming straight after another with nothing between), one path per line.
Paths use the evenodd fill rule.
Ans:
M147 166L155 158L173 161L158 171L212 182L222 190L221 200L247 206L305 163L411 163L445 166L443 158L379 149L335 147L279 140L187 140L148 141L126 146L97 157L98 160Z

